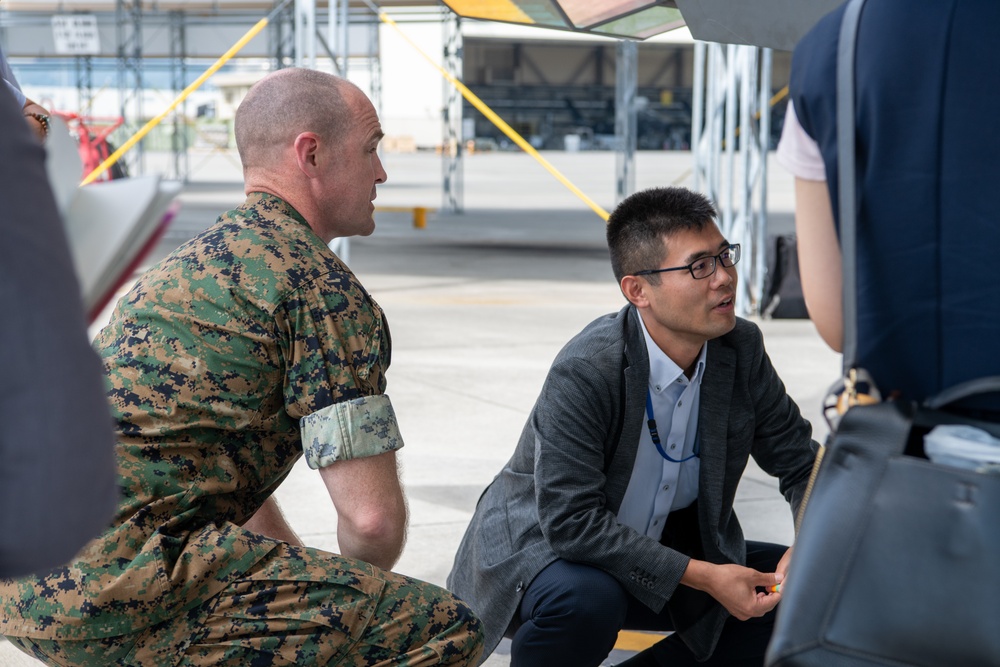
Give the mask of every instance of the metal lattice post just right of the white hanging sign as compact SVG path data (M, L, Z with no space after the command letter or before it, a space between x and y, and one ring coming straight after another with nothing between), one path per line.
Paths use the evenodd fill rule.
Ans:
M117 134L127 139L143 123L142 0L117 0L115 20L118 36L119 113L125 119ZM143 142L140 141L122 161L126 163L130 175L142 174L145 168Z

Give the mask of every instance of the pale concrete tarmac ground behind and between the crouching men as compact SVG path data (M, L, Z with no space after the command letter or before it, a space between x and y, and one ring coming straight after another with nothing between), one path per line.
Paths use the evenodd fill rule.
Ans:
M613 155L547 157L610 210ZM184 208L159 256L242 201L233 156L200 159L205 172L200 179L194 174L181 195ZM690 185L690 162L688 153L640 153L638 185ZM440 206L439 158L388 155L385 163L389 181L376 204ZM784 172L769 180L779 231L790 226L790 181ZM396 570L440 585L477 498L513 451L552 359L584 325L625 303L608 263L603 222L530 158L471 156L465 187L466 213L434 212L426 229L415 229L405 213L378 213L375 233L353 239L348 253L392 332L388 394L406 443L400 461L410 507ZM821 440L820 403L839 372L839 356L806 320L757 323L789 394ZM337 551L336 513L315 471L300 462L277 496L307 544ZM790 543L792 517L777 482L753 463L737 513L748 538ZM605 664L627 655L616 651ZM509 662L501 644L486 665ZM0 665L35 664L0 642Z

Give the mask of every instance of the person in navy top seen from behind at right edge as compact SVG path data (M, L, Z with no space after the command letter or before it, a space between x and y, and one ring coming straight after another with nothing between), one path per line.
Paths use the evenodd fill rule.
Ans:
M795 175L809 313L843 340L836 57L844 7L792 59L778 159ZM855 59L858 357L883 396L923 400L1000 375L1000 133L994 0L870 0ZM1000 397L975 406L1000 412Z

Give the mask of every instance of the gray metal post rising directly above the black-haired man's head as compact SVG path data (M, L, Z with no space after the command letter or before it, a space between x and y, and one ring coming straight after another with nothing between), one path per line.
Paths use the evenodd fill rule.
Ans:
M615 46L615 202L635 192L636 93L639 89L639 47L632 40Z

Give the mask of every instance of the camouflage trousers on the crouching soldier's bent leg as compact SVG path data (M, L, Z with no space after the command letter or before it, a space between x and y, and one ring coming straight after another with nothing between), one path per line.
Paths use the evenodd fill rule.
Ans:
M483 650L479 619L444 589L290 545L208 602L135 634L8 639L60 667L474 665Z

